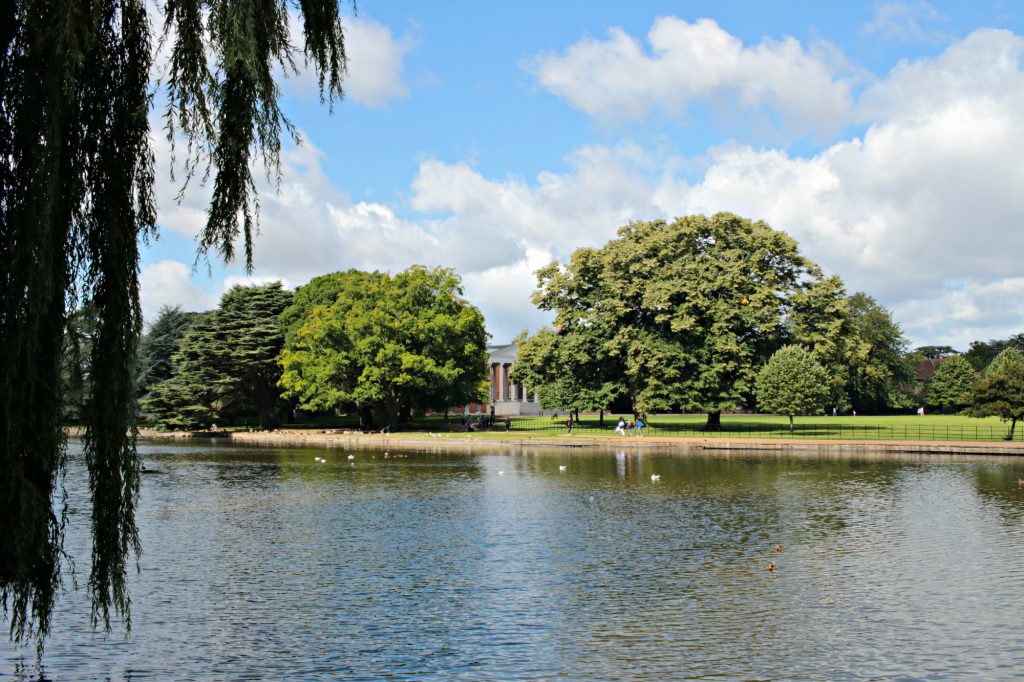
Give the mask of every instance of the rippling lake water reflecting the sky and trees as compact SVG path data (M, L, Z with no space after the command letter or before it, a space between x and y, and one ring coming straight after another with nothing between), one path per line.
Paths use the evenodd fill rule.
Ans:
M13 677L1021 672L1021 460L141 453L134 631L72 592L42 670L4 645ZM68 484L83 566L76 452Z

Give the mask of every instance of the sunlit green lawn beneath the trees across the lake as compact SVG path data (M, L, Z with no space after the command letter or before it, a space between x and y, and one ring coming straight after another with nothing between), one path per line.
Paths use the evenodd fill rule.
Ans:
M585 415L573 429L575 434L587 436L614 436L617 415L605 415L603 428L597 416ZM627 416L629 419L629 416ZM645 435L680 437L761 437L761 438L829 438L868 440L1002 440L1009 423L992 417L972 419L956 415L898 415L858 417L798 417L793 434L784 416L775 415L723 415L721 431L705 431L703 415L654 415ZM355 428L354 417L316 418L300 420L287 428L345 429ZM414 419L402 426L404 432L460 433L460 417L450 417L445 424L441 417ZM565 415L557 420L550 417L520 417L512 419L512 431L522 437L552 437L565 435ZM494 428L474 435L502 436L504 422L499 419ZM565 436L571 437L571 436ZM1024 439L1024 427L1018 428L1015 440Z

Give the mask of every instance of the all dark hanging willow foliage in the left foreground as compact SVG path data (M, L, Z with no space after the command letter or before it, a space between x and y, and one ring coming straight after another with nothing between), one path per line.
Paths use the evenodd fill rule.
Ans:
M333 100L345 70L337 3L299 5L306 60ZM262 157L276 172L281 134L291 130L272 77L295 65L288 5L171 0L165 14L167 130L185 140L188 176L213 178L200 251L229 259L241 232L251 266L251 162ZM138 243L157 220L153 47L141 0L12 0L0 9L0 601L17 642L42 642L61 587L61 346L80 304L99 321L83 409L93 622L110 628L114 611L130 627Z

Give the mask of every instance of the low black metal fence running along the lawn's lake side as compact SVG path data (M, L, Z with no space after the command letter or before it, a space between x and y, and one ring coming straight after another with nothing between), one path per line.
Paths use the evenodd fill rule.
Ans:
M565 418L553 420L549 417L512 417L510 431L546 432L552 435L567 433ZM573 422L572 433L616 435L617 420L605 419L604 424L597 419L583 419ZM479 429L477 422L471 424ZM494 424L485 423L487 431L505 431L504 418ZM885 423L797 423L793 431L788 424L766 424L760 422L727 421L719 431L706 431L705 424L698 422L673 422L652 420L643 428L645 436L679 436L694 438L820 438L835 440L1008 440L1009 424L885 424ZM634 430L628 436L638 437ZM1024 428L1016 429L1014 440L1024 440Z

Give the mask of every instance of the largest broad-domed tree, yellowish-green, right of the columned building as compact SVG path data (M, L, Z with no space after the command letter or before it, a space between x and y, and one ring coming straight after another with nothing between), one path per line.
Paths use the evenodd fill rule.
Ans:
M635 222L538 272L534 300L559 335L592 336L639 413L688 409L718 428L751 399L818 267L764 222L731 213Z

